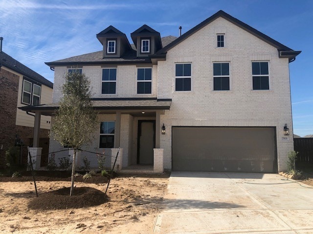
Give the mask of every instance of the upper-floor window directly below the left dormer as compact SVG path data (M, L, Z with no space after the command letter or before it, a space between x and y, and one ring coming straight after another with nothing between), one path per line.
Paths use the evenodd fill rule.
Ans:
M102 94L116 93L116 68L102 69Z

